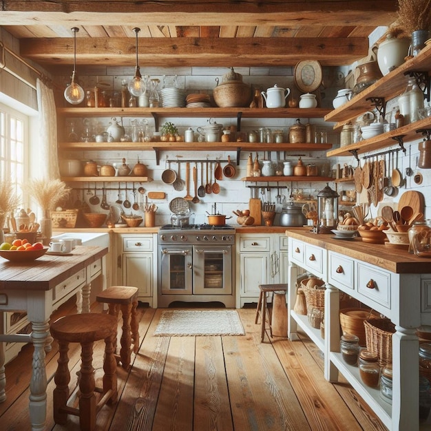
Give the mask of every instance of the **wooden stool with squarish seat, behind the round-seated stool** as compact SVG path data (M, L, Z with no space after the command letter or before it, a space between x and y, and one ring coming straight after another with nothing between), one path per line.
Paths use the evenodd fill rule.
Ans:
M136 316L136 307L138 306L138 288L131 286L111 286L105 291L98 293L96 296L98 302L105 302L109 307L109 314L118 320L118 313L121 310L123 315L123 333L120 339L120 356L117 359L121 361L123 368L129 368L133 352L139 350L139 331L138 320ZM114 353L116 353L116 339L114 340Z

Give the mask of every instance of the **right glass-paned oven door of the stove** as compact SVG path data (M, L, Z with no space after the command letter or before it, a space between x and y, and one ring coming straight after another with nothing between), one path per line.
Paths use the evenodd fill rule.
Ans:
M193 293L230 295L232 293L232 246L193 246Z

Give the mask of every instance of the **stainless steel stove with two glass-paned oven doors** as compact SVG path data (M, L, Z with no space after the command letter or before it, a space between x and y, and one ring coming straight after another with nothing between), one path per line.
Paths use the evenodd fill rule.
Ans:
M158 306L221 302L235 307L235 228L224 224L167 224L158 233Z

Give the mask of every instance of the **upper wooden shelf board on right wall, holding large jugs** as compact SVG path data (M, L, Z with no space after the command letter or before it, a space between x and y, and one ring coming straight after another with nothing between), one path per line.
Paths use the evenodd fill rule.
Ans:
M383 76L376 83L367 87L364 91L355 95L350 101L333 109L324 117L325 121L337 122L334 129L342 127L344 123L353 118L357 118L364 112L374 107L373 99L384 98L386 101L399 96L407 85L406 74L409 72L430 72L431 71L431 43L419 52L412 59L406 61L392 72ZM430 118L428 118L428 123Z

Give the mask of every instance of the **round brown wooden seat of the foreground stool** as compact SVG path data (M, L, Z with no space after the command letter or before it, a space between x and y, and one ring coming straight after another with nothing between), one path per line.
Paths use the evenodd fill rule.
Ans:
M63 316L51 325L51 335L69 343L105 339L116 331L117 319L108 314L84 313Z

